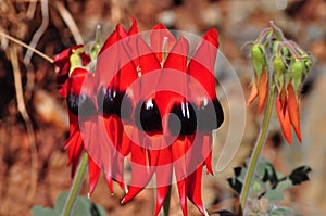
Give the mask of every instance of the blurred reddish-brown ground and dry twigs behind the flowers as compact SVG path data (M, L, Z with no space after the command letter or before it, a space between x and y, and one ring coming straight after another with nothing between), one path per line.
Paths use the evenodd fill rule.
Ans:
M202 35L211 27L220 33L224 53L241 80L246 99L252 76L249 52L241 49L273 20L288 39L315 58L301 98L303 143L289 147L274 115L262 154L283 174L303 164L312 167L310 181L285 192L284 205L296 215L326 215L326 1L325 0L2 0L0 30L30 43L49 56L76 43L93 39L96 26L106 38L117 23L126 28L136 17L140 30L158 23L168 28ZM0 215L30 215L34 205L52 207L57 196L72 183L67 155L65 101L57 91L53 66L26 49L0 38ZM233 88L233 86L230 86ZM235 99L239 96L235 90ZM223 98L226 106L227 101ZM242 104L240 104L242 105ZM215 176L204 177L203 199L209 212L235 212L237 198L227 183L233 168L250 156L261 117L256 105L247 109L241 147L231 164ZM218 131L223 138L227 125ZM214 147L214 163L224 143ZM82 189L86 195L88 182ZM181 215L173 189L171 215ZM122 206L123 191L110 194L104 177L91 196L109 215L152 215L154 192L148 189ZM199 215L189 205L189 215Z

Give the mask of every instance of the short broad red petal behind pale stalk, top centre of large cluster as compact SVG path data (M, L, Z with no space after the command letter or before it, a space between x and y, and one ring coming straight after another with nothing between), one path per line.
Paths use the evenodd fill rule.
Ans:
M164 40L167 40L166 45L163 45ZM150 46L152 51L156 54L160 63L163 62L163 51L168 53L175 42L175 37L163 24L159 24L153 27L150 35ZM166 50L164 50L163 46L166 46Z

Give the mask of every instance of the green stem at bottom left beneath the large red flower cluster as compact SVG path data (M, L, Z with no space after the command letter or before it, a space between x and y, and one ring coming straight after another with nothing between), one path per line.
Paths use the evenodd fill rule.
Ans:
M75 174L74 182L72 185L70 194L65 201L61 216L70 216L74 208L75 201L80 191L82 183L86 174L87 162L88 162L88 155L87 152L85 152L78 165L77 173Z

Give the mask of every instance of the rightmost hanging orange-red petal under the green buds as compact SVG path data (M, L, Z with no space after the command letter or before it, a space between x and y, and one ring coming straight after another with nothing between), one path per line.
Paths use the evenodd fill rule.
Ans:
M288 86L287 109L289 112L291 124L297 134L297 137L298 137L299 141L302 142L302 137L301 137L301 132L300 132L299 102L297 101L292 84L289 84L289 86Z

